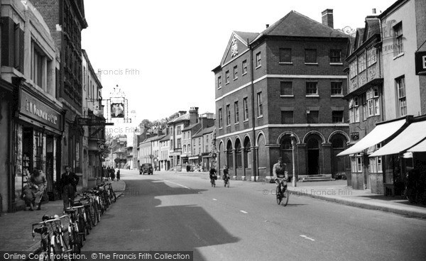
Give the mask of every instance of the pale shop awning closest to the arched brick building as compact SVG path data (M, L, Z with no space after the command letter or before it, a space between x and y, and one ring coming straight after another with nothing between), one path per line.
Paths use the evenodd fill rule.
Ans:
M371 130L364 138L355 143L351 148L348 148L337 156L345 156L350 154L359 153L366 148L381 143L383 140L391 137L393 133L397 132L405 124L405 119L398 121L391 121L388 123L378 123L376 128Z

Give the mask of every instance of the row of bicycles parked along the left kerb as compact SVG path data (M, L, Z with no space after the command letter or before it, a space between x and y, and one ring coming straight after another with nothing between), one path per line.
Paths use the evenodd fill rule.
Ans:
M86 236L101 221L116 194L111 182L77 195L73 206L65 209L63 216L43 216L42 222L32 225L33 238L40 235L39 260L74 260L80 254Z

